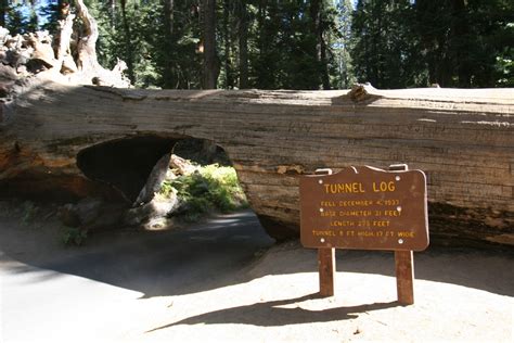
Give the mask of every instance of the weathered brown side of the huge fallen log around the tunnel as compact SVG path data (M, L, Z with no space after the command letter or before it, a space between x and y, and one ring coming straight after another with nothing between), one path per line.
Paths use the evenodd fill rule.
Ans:
M274 237L298 234L298 175L407 163L428 176L433 238L514 244L513 89L152 91L47 81L16 93L0 115L4 190L52 178L83 195L92 185L76 164L83 149L194 137L228 152Z

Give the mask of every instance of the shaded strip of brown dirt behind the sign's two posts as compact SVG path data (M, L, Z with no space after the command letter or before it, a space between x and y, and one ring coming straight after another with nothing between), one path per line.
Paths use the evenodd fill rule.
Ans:
M252 270L255 278L272 274L294 274L317 271L317 251L303 250L309 255L308 263L273 264L273 255L293 254L301 250L299 242L283 251L277 250L269 261ZM426 251L414 252L414 277L416 280L452 283L478 289L494 294L514 296L514 250L429 246ZM307 270L306 270L307 269ZM389 251L336 250L336 270L396 277L395 254ZM343 276L344 277L344 276ZM372 285L370 285L372 287Z

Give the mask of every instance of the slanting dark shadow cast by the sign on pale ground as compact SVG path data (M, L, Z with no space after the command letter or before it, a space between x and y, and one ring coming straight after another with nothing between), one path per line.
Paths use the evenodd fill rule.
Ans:
M297 298L256 303L252 305L223 308L198 316L185 318L162 327L153 328L146 333L167 329L179 325L215 325L243 323L258 327L282 327L287 325L314 323L355 319L359 314L371 310L400 306L398 302L374 303L359 306L337 307L322 310L301 308L298 303L319 298L318 293L304 295ZM281 307L293 306L293 307Z

